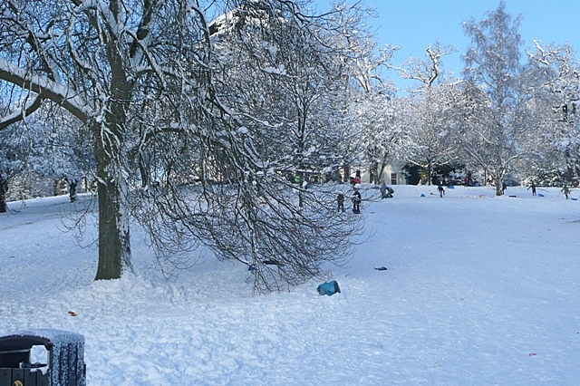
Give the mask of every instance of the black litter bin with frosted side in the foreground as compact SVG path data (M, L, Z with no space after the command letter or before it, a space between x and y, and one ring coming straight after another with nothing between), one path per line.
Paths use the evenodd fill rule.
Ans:
M45 362L31 363L34 346ZM84 336L40 329L0 336L0 386L84 386Z

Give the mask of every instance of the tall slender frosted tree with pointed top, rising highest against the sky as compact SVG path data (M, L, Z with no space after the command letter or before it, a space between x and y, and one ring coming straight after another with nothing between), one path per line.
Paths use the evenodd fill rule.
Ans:
M514 162L525 157L520 140L527 135L527 128L518 121L518 111L527 98L520 84L523 66L520 63L519 22L518 17L512 20L505 2L501 1L498 8L479 23L469 20L464 24L473 44L464 55L464 72L468 82L473 84L466 84L464 89L469 93L462 101L469 105L465 107L467 110L458 111L462 125L461 146L469 159L494 180L498 196L502 194L502 182ZM480 100L484 97L480 93L482 90L487 101ZM476 99L479 99L477 108L471 105ZM486 106L484 116L471 115L470 112L482 112L481 108Z

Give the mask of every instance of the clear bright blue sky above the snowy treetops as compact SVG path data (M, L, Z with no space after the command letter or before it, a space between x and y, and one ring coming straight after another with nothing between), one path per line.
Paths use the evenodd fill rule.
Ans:
M324 10L332 0L314 0L313 4ZM470 18L478 22L498 7L499 0L362 0L362 4L379 14L370 19L379 43L401 46L393 64L401 64L410 56L423 58L425 48L439 40L458 48L459 52L446 56L443 64L447 71L459 75L461 55L470 45L461 24ZM522 16L520 34L525 47L532 46L536 38L545 44L571 43L576 51L580 49L579 0L506 0L506 7L512 16ZM388 76L403 84L396 73Z

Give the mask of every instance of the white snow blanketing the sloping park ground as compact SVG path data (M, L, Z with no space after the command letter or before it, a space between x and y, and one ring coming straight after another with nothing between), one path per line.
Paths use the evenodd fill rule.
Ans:
M84 247L62 232L87 198L12 202L0 336L81 333L88 385L575 384L580 202L560 188L393 188L362 204L368 234L332 268L332 296L322 280L252 296L247 267L204 252L166 280L137 229L135 274L93 282L94 229Z

